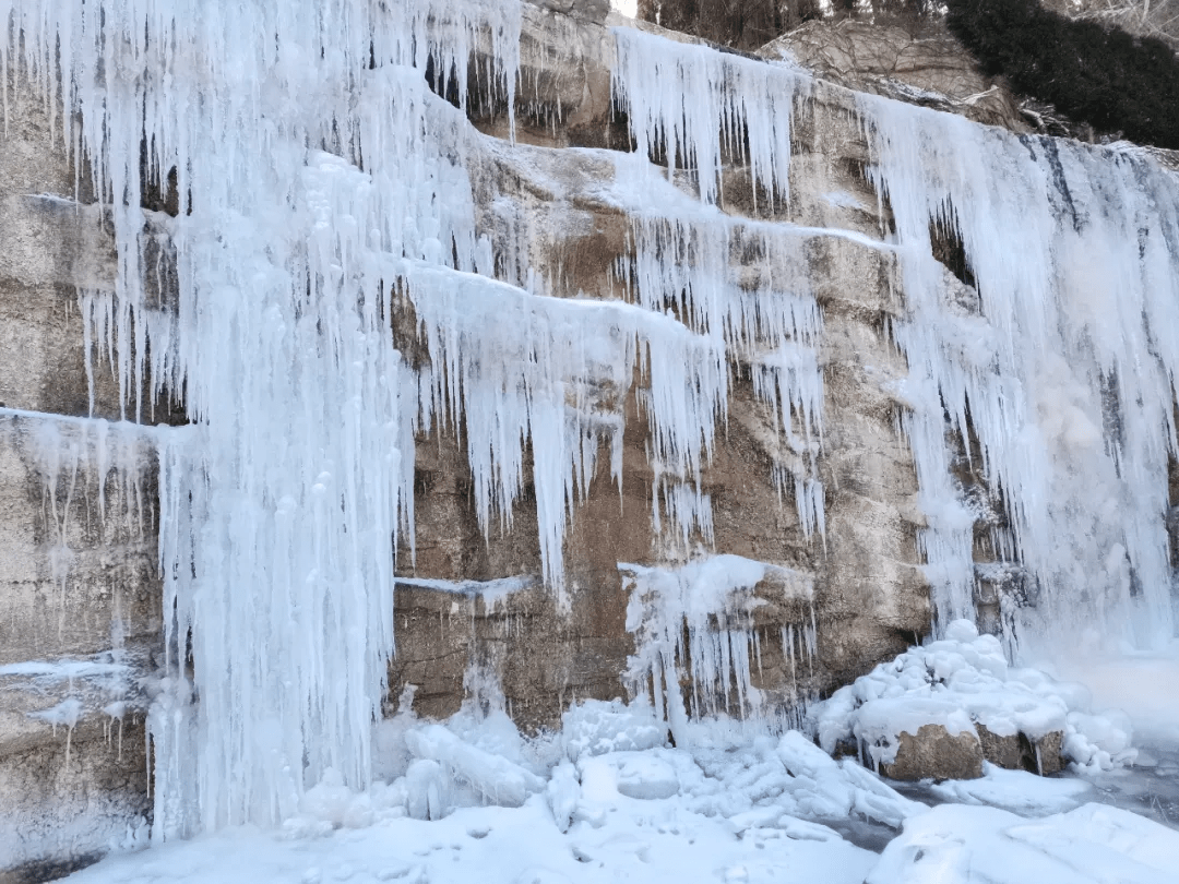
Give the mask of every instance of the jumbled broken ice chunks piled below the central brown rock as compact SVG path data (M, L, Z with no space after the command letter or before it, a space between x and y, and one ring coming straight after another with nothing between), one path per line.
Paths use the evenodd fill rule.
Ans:
M856 761L832 760L797 731L691 721L670 748L665 721L640 698L575 704L559 733L526 743L502 710L486 714L475 706L468 702L446 725L411 712L386 721L382 773L389 783L370 799L386 812L428 818L429 807L440 814L472 805L518 807L542 794L561 831L599 829L630 800L683 803L691 813L730 820L736 832L817 840L839 838L823 822L856 814L898 829L928 810ZM328 786L340 785L332 773Z

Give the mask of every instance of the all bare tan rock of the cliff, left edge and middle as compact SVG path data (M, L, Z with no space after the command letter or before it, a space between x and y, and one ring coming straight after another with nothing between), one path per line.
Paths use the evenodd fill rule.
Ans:
M604 2L526 6L515 145L502 107L472 112L475 128L500 139L472 170L483 226L499 253L541 269L562 297L625 295L615 269L633 250L633 219L602 197L618 173L611 154L584 150L631 149L612 107L614 24ZM87 362L80 321L86 292L108 290L114 278L110 229L75 187L52 103L13 77L0 139L0 799L11 809L0 819L0 870L9 870L0 882L85 862L133 838L150 813L144 714L162 612L154 449L144 424L183 421L176 403L150 402L139 390L130 398L140 424L116 422L137 410L120 405L105 358ZM620 562L677 566L690 553L716 552L805 575L812 591L804 601L759 585L755 594L766 603L747 624L760 648L753 684L785 711L928 632L915 545L923 517L897 429L902 405L890 392L907 372L888 334L902 296L890 252L875 248L889 229L888 206L864 176L868 146L855 110L854 93L816 81L798 108L789 205L768 212L732 158L722 204L731 216L806 229L802 256L823 312L817 469L825 536L803 530L789 489L776 483L775 470L793 455L737 364L727 424L700 480L712 503L711 541L697 533L676 545L656 532L646 378L638 376L612 404L625 417L621 480L610 475L610 457L599 457L572 509L565 611L540 578L534 495L526 489L511 526L485 536L466 430L435 424L416 446L416 535L397 550L390 706L414 685L420 713L447 715L472 691L470 673L494 672L509 712L536 730L573 700L626 694L635 687L626 678L634 638ZM167 216L145 209L145 225L166 236ZM775 271L739 250L731 260L751 277ZM422 358L408 308L394 334L408 358ZM87 415L112 423L75 420ZM53 461L51 451L68 456ZM799 639L792 658L780 635L808 627L817 633L812 653ZM31 661L44 666L24 666Z

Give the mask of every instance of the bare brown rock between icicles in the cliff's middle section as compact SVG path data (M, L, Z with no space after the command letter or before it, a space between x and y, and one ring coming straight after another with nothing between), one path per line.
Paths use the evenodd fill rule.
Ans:
M626 170L611 154L575 150L626 139L610 106L610 32L527 7L525 14L518 146L496 151L475 171L483 229L492 231L498 252L522 253L544 269L551 290L562 297L633 297L619 268L633 259L635 230L657 224L659 211L644 217L620 205L614 193L625 189L619 178ZM546 55L532 54L542 46L549 47ZM921 523L915 477L895 429L896 402L885 392L905 370L884 332L888 317L900 310L896 266L862 239L878 238L883 222L862 174L867 144L848 119L851 110L850 93L818 87L796 132L789 206L776 206L771 215L756 207L739 163L725 170L722 200L724 217L738 219L724 256L735 281L750 289L775 276L815 281L808 295L823 316L815 348L823 403L816 468L824 488L825 536L804 528L791 489L777 487L776 473L789 474L809 455L790 449L780 417L759 401L737 354L727 369L727 424L718 429L700 476L700 490L711 500L711 537L693 528L685 545L659 532L652 488L663 488L661 477L647 455L650 428L640 405L650 380L635 377L617 401L605 401L615 395L610 390L595 402L625 425L621 475L612 476L610 460L599 459L586 493L571 509L564 553L571 614L559 612L540 581L505 599L487 618L482 602L404 585L397 596L391 695L401 682L413 682L420 686L416 708L454 712L463 695L463 672L485 655L505 661L505 694L525 725L553 723L574 697L623 693L620 679L634 646L625 628L628 586L619 562L676 566L693 550L785 566L812 582L814 625L810 602L799 605L780 592L776 596L771 587L764 588L769 603L753 620L762 635L753 684L788 706L830 690L868 660L888 657L914 634L928 632L928 587L914 545ZM502 133L500 120L476 117L474 124ZM757 242L766 218L812 230L797 237L789 255L766 255ZM740 219L749 219L749 226ZM829 236L826 229L844 235ZM449 581L540 575L534 492L526 486L511 527L505 532L496 525L485 540L465 446L447 430L419 440L416 563L403 541L399 573ZM666 508L666 502L659 506ZM663 517L668 519L666 509ZM805 674L791 674L780 634L790 627L801 634L815 625L817 658L806 659Z

